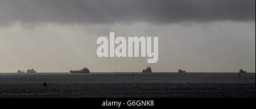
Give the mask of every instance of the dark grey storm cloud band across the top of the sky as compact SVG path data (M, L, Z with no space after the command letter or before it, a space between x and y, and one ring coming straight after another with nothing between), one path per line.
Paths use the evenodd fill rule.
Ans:
M0 24L255 20L255 0L1 0Z

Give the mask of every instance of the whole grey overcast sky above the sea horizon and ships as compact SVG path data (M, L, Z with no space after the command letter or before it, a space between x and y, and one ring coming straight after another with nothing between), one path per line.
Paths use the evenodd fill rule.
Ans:
M97 38L159 37L153 72L255 72L255 0L1 0L0 72L141 72L98 57Z

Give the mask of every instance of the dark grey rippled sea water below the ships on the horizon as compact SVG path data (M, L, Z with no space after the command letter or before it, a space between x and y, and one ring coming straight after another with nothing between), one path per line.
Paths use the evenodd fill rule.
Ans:
M0 73L0 97L255 98L255 73Z

